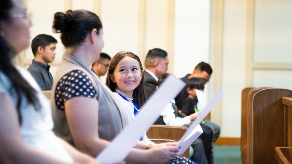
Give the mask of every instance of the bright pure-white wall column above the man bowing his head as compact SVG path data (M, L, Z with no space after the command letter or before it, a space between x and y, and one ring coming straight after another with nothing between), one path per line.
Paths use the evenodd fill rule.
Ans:
M209 62L210 1L175 1L174 75L192 73Z

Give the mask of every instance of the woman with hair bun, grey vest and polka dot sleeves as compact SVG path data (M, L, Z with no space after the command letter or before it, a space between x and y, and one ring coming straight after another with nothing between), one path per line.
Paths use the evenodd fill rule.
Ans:
M55 133L93 157L129 123L123 104L89 69L104 46L102 23L87 10L54 15L53 31L66 48L53 84ZM147 146L137 142L127 163L168 163L176 155L175 143ZM119 148L122 149L122 148Z

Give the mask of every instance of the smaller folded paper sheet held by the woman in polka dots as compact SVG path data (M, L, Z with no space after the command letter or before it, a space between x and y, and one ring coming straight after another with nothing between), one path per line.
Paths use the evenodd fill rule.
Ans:
M201 121L208 115L211 109L221 100L223 94L220 91L217 91L211 101L207 104L206 108L201 111L201 114L195 119L195 121L190 125L185 135L180 139L177 143L176 147L181 146L181 150L186 150L190 145L199 137L193 137L193 135L197 135L198 130L196 131L197 126L201 123ZM200 126L201 128L201 126ZM198 128L199 129L199 128ZM197 133L196 133L197 132ZM180 152L180 151L179 151ZM181 154L181 153L177 153Z

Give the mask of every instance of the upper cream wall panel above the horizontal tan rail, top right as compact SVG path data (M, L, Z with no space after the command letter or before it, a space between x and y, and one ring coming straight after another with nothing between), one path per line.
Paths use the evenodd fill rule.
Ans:
M291 63L292 1L256 0L254 62Z

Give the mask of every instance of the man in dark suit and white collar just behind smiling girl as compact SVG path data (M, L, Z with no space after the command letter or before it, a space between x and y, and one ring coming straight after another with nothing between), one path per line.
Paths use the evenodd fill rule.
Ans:
M167 53L160 48L149 50L145 60L144 87L146 99L156 90L158 78L168 70Z

